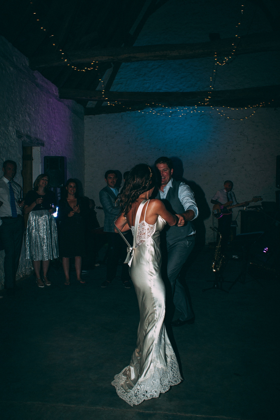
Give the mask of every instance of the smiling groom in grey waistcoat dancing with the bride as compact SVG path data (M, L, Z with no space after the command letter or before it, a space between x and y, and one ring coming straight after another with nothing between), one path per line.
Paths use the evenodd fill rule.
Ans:
M178 225L165 228L167 245L167 277L170 281L173 303L179 318L171 325L181 325L194 322L194 312L186 295L184 286L179 281L179 274L194 248L195 230L191 223L198 216L198 209L194 200L194 193L184 182L174 181L173 163L168 157L159 157L154 165L160 172L161 186L157 194L170 213L180 215Z

